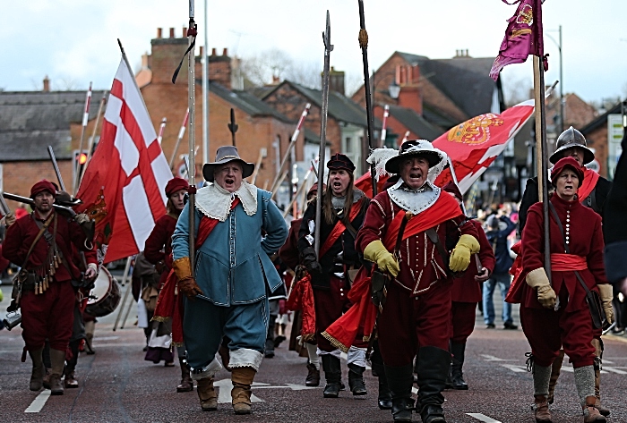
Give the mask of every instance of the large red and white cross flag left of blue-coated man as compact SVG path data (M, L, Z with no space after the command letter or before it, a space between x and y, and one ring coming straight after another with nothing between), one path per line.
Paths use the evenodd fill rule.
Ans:
M166 213L164 192L172 178L142 93L124 58L108 97L98 148L85 169L77 197L96 222L95 243L105 263L137 254Z

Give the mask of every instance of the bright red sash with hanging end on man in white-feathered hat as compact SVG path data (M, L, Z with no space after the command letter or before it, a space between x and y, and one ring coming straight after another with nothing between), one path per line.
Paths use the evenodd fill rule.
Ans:
M390 251L396 246L400 223L405 214L405 210L401 210L394 216L385 234L383 245ZM460 205L457 201L448 194L441 194L433 206L417 216L413 216L408 221L402 239L406 240L410 236L433 228L436 224L442 224L442 222L446 222L449 219L461 216L461 214ZM322 333L322 336L328 339L333 346L345 352L348 351L360 331L364 334L363 341L370 339L376 319L376 308L372 300L370 300L370 275L368 275L364 267L359 269L355 277L355 282L348 292L348 300L351 300L353 303L350 309Z

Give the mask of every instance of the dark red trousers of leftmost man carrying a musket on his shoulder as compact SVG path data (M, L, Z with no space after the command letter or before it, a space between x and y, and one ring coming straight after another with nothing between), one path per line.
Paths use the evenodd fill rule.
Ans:
M50 283L44 293L21 297L21 337L26 349L39 350L46 339L53 350L65 351L74 322L74 289L70 281Z

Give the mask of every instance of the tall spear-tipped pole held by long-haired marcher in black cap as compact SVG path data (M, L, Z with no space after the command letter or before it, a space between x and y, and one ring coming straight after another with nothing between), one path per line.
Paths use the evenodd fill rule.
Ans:
M333 46L331 45L331 18L329 17L329 11L327 11L327 25L326 29L322 33L322 41L324 43L324 71L322 73L322 108L320 111L320 152L318 156L320 159L318 163L324 163L324 152L327 145L327 114L329 112L329 70L331 66L331 51ZM318 181L324 179L324 172L319 172ZM322 176L322 178L321 178ZM315 229L314 229L314 244L315 255L320 259L320 221L322 215L322 190L318 190L317 201L315 204Z

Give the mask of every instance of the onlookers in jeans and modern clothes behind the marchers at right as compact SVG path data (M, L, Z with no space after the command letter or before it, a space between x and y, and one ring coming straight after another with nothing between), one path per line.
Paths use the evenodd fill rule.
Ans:
M490 279L483 283L483 303L479 303L479 309L484 316L485 327L492 329L494 324L494 291L498 286L502 297L502 323L504 329L517 329L511 316L511 304L505 302L505 295L510 289L510 267L516 258L516 253L511 247L520 241L518 206L513 202L492 204L490 207L477 210L477 220L481 222L485 234L493 246L496 265ZM625 334L627 328L627 299L621 292L614 292L614 316L616 324L612 328L612 334Z

